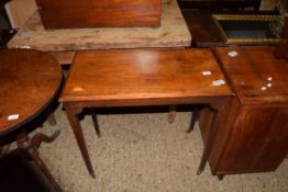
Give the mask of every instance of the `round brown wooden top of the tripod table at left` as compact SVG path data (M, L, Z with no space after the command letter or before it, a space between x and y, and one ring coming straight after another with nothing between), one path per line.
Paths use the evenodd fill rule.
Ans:
M34 49L0 50L0 135L41 113L62 83L60 65Z

